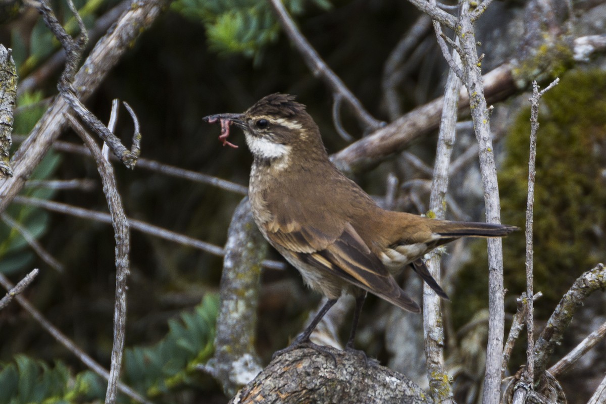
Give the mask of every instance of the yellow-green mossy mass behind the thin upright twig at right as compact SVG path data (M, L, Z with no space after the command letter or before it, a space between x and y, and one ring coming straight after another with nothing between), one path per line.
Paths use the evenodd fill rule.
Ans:
M515 120L507 137L507 158L499 174L502 220L524 228L528 179L530 108ZM547 316L574 279L604 260L606 251L606 74L573 70L541 99L534 188L534 290L545 297ZM462 272L465 312L485 306L485 242L473 247L476 259ZM505 287L525 290L525 239L504 241ZM484 271L484 270L482 270ZM470 299L475 296L477 299ZM454 297L456 300L457 297ZM473 300L473 301L471 301ZM470 308L468 304L474 307ZM453 302L453 307L457 307ZM543 313L540 308L543 307ZM459 314L468 316L464 313Z

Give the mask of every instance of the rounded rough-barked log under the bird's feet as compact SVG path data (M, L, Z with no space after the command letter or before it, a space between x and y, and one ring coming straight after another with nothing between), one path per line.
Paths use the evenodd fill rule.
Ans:
M406 376L375 360L328 348L301 348L276 357L230 404L428 404L431 397Z

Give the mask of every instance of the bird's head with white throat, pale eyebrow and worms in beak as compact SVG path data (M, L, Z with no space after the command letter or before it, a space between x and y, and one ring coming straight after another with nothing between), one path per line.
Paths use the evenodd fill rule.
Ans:
M270 94L242 114L216 114L203 118L221 122L221 139L229 136L229 125L244 131L246 143L255 159L275 161L287 159L291 153L318 150L325 154L318 126L305 111L305 105L288 94Z

